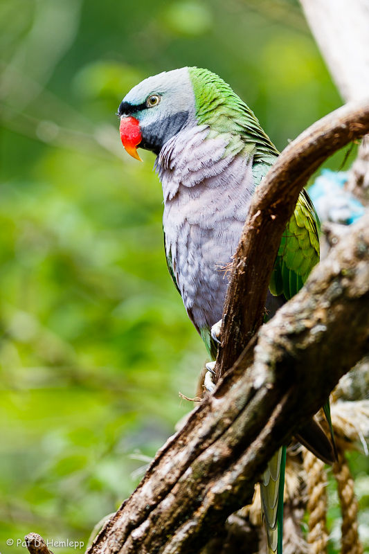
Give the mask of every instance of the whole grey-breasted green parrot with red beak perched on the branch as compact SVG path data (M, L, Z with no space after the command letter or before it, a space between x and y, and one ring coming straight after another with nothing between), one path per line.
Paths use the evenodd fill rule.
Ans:
M205 379L211 391L228 286L226 268L255 187L279 152L253 111L208 69L183 67L141 81L123 98L117 116L127 153L138 160L138 148L156 155L168 270L213 360L206 364L210 378ZM303 189L276 255L264 321L303 287L318 261L318 217ZM325 410L330 422L329 401ZM332 443L314 421L299 431L298 438L323 461L333 463ZM285 459L286 447L281 447L260 483L270 554L282 553Z

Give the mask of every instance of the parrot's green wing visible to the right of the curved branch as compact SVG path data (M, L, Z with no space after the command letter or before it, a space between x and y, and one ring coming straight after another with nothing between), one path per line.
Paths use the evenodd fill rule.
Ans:
M289 300L319 261L318 216L305 189L282 235L269 289Z

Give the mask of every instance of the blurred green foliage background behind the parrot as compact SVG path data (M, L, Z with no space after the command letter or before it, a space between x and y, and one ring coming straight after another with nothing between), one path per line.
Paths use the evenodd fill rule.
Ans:
M206 361L165 265L154 156L125 153L120 100L204 66L280 150L342 100L294 0L1 0L0 52L5 554L30 531L86 546L192 409L178 393ZM365 508L369 464L351 458Z

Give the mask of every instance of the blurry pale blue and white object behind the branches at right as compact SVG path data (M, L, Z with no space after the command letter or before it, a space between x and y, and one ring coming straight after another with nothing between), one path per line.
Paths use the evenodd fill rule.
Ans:
M352 193L345 190L346 181L348 172L325 169L309 188L310 198L321 222L350 225L363 215L363 205Z

